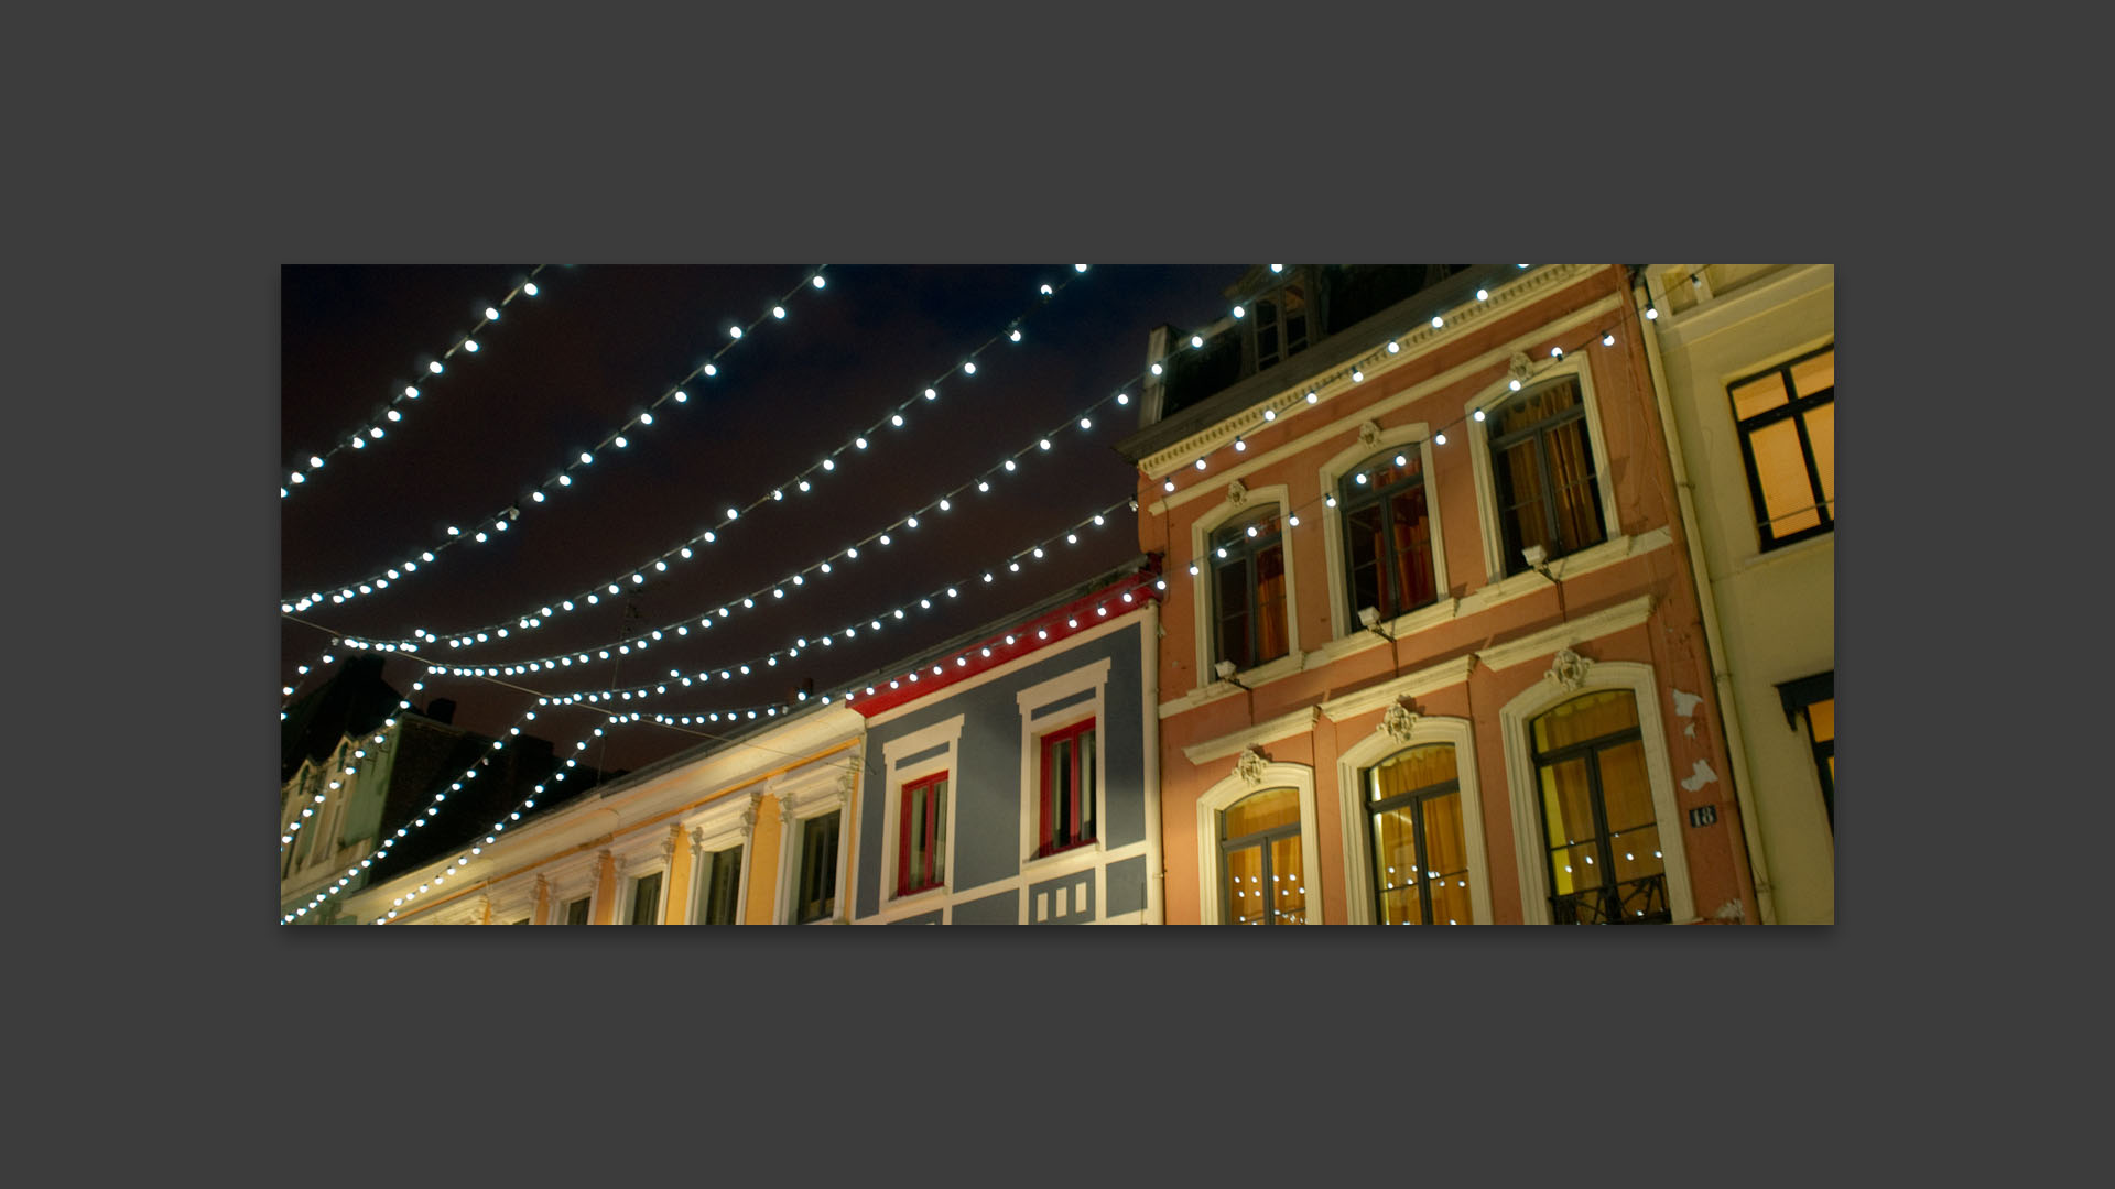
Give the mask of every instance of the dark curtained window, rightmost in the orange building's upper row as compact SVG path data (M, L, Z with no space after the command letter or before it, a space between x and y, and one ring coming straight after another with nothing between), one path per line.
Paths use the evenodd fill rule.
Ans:
M1527 569L1521 550L1529 546L1559 559L1607 539L1578 379L1523 391L1489 421L1506 573Z

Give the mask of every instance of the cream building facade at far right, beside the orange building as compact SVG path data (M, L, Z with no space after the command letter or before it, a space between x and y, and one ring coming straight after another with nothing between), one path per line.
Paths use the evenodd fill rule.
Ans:
M1639 300L1753 789L1762 918L1836 920L1836 269L1652 264Z

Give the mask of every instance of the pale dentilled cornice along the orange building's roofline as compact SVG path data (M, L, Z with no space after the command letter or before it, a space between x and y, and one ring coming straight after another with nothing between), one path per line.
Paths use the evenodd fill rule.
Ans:
M1146 478L1163 478L1176 470L1191 465L1197 455L1216 451L1233 442L1242 434L1254 434L1263 425L1275 425L1286 417L1296 417L1307 404L1307 394L1316 394L1316 404L1320 408L1328 404L1335 396L1349 387L1364 387L1351 381L1351 372L1364 372L1366 381L1383 377L1447 343L1453 343L1466 334L1472 334L1493 319L1514 313L1525 303L1548 296L1561 288L1571 286L1588 277L1590 273L1605 269L1605 264L1544 264L1542 269L1531 269L1521 277L1489 290L1489 300L1468 300L1445 311L1442 326L1434 328L1423 324L1394 336L1400 351L1390 353L1385 345L1373 347L1371 351L1332 364L1320 372L1307 372L1296 383L1282 387L1280 391L1250 404L1248 408L1233 413L1187 438L1163 446L1138 461L1138 470ZM1404 298L1404 305L1415 303L1417 296ZM1267 421L1265 410L1273 417Z

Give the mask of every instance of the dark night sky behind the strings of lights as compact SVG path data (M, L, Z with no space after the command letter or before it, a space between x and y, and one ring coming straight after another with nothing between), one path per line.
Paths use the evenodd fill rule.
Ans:
M1225 267L825 267L827 286L804 283L812 264L787 267L546 267L539 294L516 296L501 319L478 330L478 353L457 351L442 374L438 358L478 326L529 273L522 267L286 267L281 271L281 597L324 592L324 601L281 616L281 683L294 698L315 690L334 666L319 656L332 635L408 639L412 628L448 637L465 628L535 616L541 605L622 580L624 594L535 630L450 650L421 645L444 664L505 666L582 652L632 633L687 620L687 637L664 635L645 654L525 673L501 681L436 677L410 658L393 658L385 677L398 690L417 679L415 705L457 700L455 721L503 732L537 694L630 688L670 669L694 673L816 637L850 622L886 616L905 601L992 563L1136 491L1134 470L1112 444L1138 427L1138 402L1104 406L1081 432L1072 419L1096 400L1129 387L1146 364L1155 326L1206 326L1225 315L1244 264ZM1043 298L1038 286L1062 286ZM795 292L797 290L797 292ZM772 319L772 305L787 317ZM624 449L601 446L677 381L730 343L717 377L683 383L685 404L666 402L654 425L626 434ZM1005 332L1019 326L1022 343ZM977 374L960 370L977 355ZM937 381L937 383L935 383ZM389 398L400 423L376 421ZM939 400L922 400L926 385ZM812 476L799 495L795 472L867 434L899 402L916 398L901 429L869 434L867 451L835 455L838 468ZM305 484L309 455L345 444L381 423L383 440L338 449ZM994 474L992 491L973 484L1000 459L1051 434L1051 451ZM594 451L573 484L529 493ZM787 586L783 601L700 630L698 616L816 561L842 554L907 512L971 482L952 512L920 516L920 529L895 533L886 548L838 556L833 573ZM785 489L785 501L744 512L694 559L670 571L628 575L723 518L728 506ZM489 544L457 544L387 590L332 605L328 594L518 504L522 514ZM816 694L907 658L941 639L1026 607L1064 586L1142 552L1136 516L1053 550L1019 575L962 588L954 603L907 618L882 633L804 650L776 669L709 681L649 702L601 702L618 713L694 715L789 700L802 677ZM626 624L626 607L639 618ZM592 654L590 654L592 656ZM309 664L309 675L296 666ZM533 692L525 692L533 690ZM607 719L586 705L539 709L529 726L558 745ZM607 732L594 755L605 770L639 768L709 743L715 728L668 728L651 719Z

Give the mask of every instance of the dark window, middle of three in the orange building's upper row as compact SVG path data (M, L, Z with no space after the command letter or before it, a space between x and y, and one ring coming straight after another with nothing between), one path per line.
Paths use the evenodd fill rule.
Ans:
M1423 470L1423 453L1413 444L1368 459L1339 482L1347 624L1358 624L1362 607L1385 622L1440 597Z

